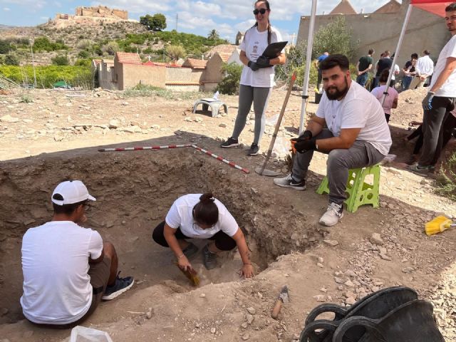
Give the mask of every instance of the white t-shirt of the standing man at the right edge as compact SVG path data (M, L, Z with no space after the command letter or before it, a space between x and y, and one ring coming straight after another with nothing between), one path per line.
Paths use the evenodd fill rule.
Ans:
M456 35L452 36L450 41L448 41L448 43L442 48L442 51L440 51L439 59L437 59L437 64L435 65L434 75L432 76L432 81L430 83L430 89L434 86L434 83L437 81L437 78L439 78L440 73L442 73L443 69L445 69L448 57L456 58ZM447 78L447 81L443 83L443 86L435 92L435 96L456 98L456 69L453 70L450 77Z

